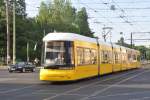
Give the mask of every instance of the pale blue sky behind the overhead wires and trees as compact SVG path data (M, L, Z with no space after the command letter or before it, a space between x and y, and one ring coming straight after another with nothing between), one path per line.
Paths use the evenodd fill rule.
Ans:
M40 2L51 0L26 0L28 17L38 14ZM131 32L133 39L150 39L150 0L71 0L72 5L80 10L85 7L89 16L90 28L103 40L104 27L111 27L107 41L116 42L121 36L130 43ZM114 8L114 9L111 9ZM106 29L107 33L110 29ZM123 32L121 35L120 32ZM135 45L150 47L150 40L134 40Z

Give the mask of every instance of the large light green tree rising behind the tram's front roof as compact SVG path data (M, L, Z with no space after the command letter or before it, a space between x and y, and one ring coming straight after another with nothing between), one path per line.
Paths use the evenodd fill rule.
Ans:
M37 22L46 32L74 32L75 9L69 0L54 0L51 4L41 3Z

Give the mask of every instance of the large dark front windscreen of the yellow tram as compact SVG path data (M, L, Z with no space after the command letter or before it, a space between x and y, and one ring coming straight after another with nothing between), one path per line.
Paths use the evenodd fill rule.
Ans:
M72 42L48 42L46 47L45 68L72 68L73 47Z

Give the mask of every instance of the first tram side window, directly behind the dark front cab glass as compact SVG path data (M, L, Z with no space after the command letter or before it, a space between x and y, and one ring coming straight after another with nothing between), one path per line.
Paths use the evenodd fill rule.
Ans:
M84 57L83 57L83 48L77 48L77 63L78 65L82 65L84 63Z

